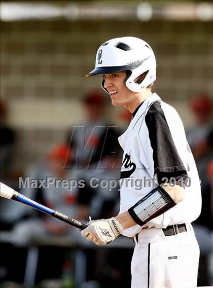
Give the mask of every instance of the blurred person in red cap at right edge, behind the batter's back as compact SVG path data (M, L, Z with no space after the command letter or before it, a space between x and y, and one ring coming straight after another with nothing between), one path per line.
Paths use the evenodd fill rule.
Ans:
M207 94L200 93L191 101L191 109L195 117L195 125L187 132L187 139L197 165L201 181L202 209L199 218L193 223L197 241L200 246L200 270L198 285L209 285L212 268L209 267L212 258L212 210L211 210L211 180L207 173L208 165L213 159L213 122L212 100Z

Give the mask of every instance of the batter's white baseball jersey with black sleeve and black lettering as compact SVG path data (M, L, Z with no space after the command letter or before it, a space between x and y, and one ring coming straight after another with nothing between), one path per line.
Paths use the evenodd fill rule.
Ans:
M201 210L199 176L183 123L172 106L153 93L136 110L127 130L119 137L119 143L124 151L120 213L158 185L157 180L153 182L156 173L187 171L189 177L183 201L143 227L135 225L126 229L123 235L132 237L143 228L166 228L198 218Z

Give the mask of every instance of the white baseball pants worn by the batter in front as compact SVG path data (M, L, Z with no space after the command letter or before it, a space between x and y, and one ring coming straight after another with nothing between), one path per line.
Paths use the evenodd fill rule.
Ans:
M143 229L132 256L131 288L194 288L198 263L199 246L191 224L187 232L173 236L165 236L160 228Z

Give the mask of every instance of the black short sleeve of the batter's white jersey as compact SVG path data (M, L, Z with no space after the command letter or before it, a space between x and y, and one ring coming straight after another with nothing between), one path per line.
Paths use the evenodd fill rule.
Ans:
M154 174L187 171L177 152L160 102L153 103L145 116L150 145L153 150Z

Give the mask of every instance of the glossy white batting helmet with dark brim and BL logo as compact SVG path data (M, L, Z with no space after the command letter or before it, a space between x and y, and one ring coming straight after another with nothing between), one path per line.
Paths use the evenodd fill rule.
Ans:
M133 92L140 92L153 83L156 80L156 60L150 45L136 37L111 39L98 48L95 68L86 77L120 71L127 71L125 84ZM146 77L135 82L145 72ZM103 85L104 79L101 86L107 91Z

